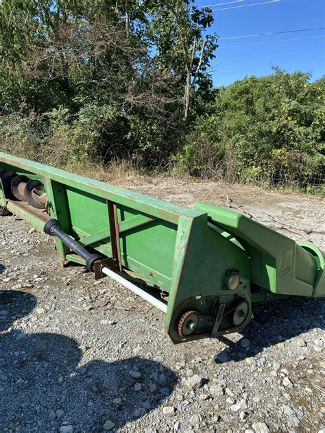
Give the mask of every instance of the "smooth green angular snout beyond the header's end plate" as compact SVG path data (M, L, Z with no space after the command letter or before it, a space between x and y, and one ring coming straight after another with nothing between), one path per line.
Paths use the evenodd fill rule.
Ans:
M298 245L238 212L207 203L195 209L248 252L252 284L283 295L325 296L324 253L315 246Z

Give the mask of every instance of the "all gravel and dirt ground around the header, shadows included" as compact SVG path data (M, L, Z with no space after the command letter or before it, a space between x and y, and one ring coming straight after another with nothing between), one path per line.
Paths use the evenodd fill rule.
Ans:
M119 182L206 200L324 249L324 201L217 183ZM322 432L324 300L254 308L243 334L173 345L163 313L0 217L0 432Z

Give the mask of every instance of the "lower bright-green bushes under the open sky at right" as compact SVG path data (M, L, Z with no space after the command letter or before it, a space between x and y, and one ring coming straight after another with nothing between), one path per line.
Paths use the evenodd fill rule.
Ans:
M279 69L220 88L200 116L180 164L192 175L264 184L322 184L325 79ZM323 177L322 177L323 173Z

